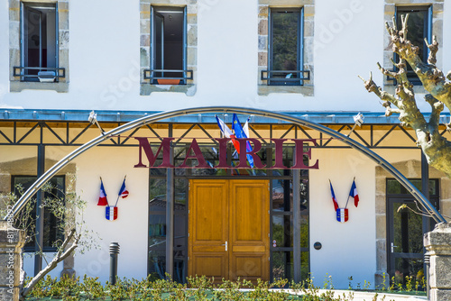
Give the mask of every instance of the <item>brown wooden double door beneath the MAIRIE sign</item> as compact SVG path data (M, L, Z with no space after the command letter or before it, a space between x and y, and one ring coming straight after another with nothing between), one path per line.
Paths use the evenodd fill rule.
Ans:
M268 180L189 181L189 275L269 280Z

